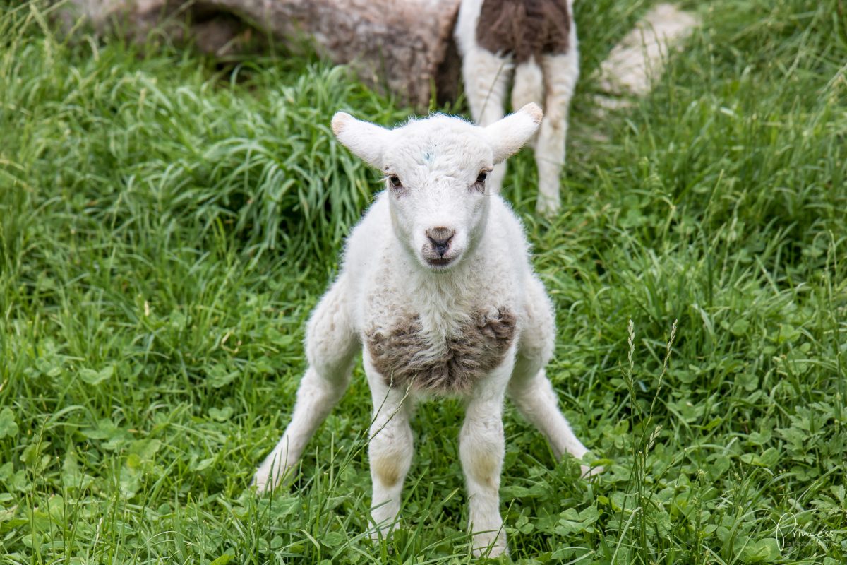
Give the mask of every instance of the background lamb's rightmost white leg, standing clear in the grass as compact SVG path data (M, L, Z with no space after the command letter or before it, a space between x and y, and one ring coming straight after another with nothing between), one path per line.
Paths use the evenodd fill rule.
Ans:
M563 55L542 58L546 83L545 116L535 144L535 163L538 165L538 213L552 215L561 206L559 181L565 162L567 114L573 89L579 79L579 53L575 48Z

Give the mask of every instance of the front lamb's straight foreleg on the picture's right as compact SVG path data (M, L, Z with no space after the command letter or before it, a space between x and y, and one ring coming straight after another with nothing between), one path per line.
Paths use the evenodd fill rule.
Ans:
M476 556L489 548L490 557L508 552L500 516L500 473L506 451L503 397L512 373L513 351L469 396L459 434L459 457L468 487L468 525Z

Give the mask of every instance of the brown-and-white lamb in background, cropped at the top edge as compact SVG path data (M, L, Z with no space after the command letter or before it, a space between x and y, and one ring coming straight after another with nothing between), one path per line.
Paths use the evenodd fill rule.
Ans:
M535 141L539 213L560 205L559 177L565 161L567 114L579 79L573 0L462 0L455 28L465 93L474 121L490 125L504 114L513 80L512 108L543 104L545 119ZM494 169L499 192L506 163Z

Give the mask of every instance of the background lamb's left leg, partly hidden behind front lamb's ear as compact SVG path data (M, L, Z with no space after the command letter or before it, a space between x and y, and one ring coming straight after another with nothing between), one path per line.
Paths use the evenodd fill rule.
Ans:
M511 58L497 57L475 46L462 59L462 76L471 115L477 125L491 125L506 114L503 104L512 77ZM488 188L492 194L500 193L505 176L504 161L495 165L489 175Z

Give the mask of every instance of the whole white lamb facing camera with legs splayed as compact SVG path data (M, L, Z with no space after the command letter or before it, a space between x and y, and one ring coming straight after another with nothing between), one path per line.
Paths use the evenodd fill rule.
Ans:
M436 114L387 130L335 114L335 136L385 173L385 191L352 230L340 274L309 319L308 368L291 424L257 469L257 490L274 489L290 473L346 390L360 350L374 403L376 537L396 523L420 398L466 403L459 452L476 554L507 549L498 508L506 394L557 456L584 456L545 376L551 302L520 221L488 190L495 164L517 152L541 118L529 104L484 128Z

